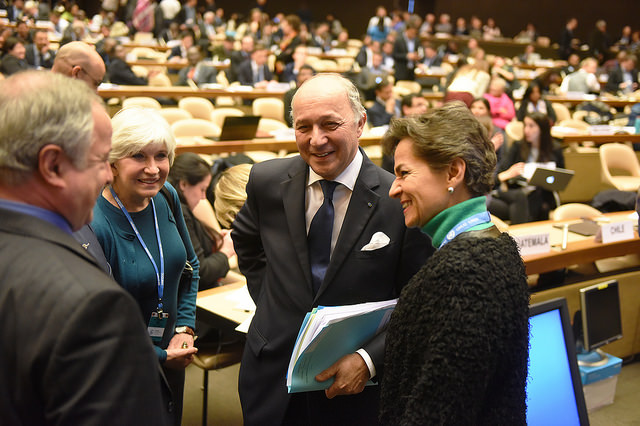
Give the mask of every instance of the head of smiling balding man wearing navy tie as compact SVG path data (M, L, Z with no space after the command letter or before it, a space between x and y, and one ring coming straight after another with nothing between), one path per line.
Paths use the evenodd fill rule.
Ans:
M300 156L335 179L353 161L367 121L358 89L338 74L318 74L300 86L291 106Z

